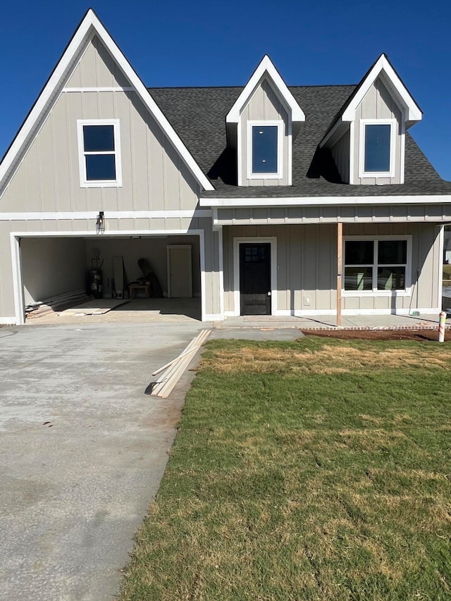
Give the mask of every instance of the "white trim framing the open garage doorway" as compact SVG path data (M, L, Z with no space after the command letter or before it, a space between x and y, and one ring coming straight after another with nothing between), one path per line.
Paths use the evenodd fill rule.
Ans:
M190 235L199 236L199 266L200 266L200 282L201 282L201 311L202 321L211 321L209 314L206 313L206 285L205 285L205 242L204 230L114 230L109 232L109 237L124 236L124 235L145 235L152 237L153 235ZM25 323L25 302L23 299L23 281L20 268L20 238L25 237L95 237L96 232L11 232L11 255L13 267L13 290L14 290L14 306L16 317L14 323L22 326ZM214 314L211 314L214 315ZM1 318L0 318L1 320Z

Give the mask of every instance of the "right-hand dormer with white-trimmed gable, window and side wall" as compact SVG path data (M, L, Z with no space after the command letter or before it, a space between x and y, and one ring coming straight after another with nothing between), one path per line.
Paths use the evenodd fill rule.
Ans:
M330 149L345 183L403 184L405 131L421 117L421 109L381 54L319 146Z

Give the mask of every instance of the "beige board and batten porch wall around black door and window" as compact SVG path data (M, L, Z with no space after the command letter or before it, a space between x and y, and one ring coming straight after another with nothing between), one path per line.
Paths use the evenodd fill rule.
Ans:
M438 278L441 258L438 228L435 224L380 223L344 225L343 235L412 235L413 295L378 297L346 296L343 309L393 310L439 306ZM235 237L276 237L277 311L302 314L302 311L336 309L336 225L228 225L223 227L224 309L234 311L233 240ZM417 277L418 271L418 277Z

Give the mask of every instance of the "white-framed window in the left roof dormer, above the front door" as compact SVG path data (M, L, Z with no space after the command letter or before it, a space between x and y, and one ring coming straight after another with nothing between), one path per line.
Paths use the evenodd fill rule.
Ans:
M282 178L282 121L247 122L247 177Z

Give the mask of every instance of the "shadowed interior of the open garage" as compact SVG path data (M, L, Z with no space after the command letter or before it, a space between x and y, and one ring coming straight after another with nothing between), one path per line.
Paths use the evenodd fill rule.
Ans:
M121 259L123 282L117 285ZM154 272L151 281L138 264L140 259ZM123 299L124 304L113 311L202 318L197 235L23 237L20 261L25 306L85 290L97 299ZM149 286L129 289L133 283Z

